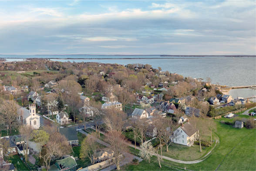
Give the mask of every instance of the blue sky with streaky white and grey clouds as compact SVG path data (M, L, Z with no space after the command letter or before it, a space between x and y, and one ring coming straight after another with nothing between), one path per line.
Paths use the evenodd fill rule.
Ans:
M0 0L0 54L255 55L255 0Z

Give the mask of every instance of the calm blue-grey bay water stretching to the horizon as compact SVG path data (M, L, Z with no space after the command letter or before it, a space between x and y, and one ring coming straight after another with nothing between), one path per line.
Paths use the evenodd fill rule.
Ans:
M217 82L226 86L243 86L256 84L256 58L255 57L160 57L152 56L100 56L100 55L0 55L2 58L20 58L8 59L7 61L20 61L24 58L60 58L52 59L66 62L63 58L87 58L87 59L69 59L73 62L99 62L110 64L150 64L153 68L161 67L163 71L168 70L171 73L181 74L184 77L203 78L210 77L212 83ZM91 59L101 58L101 59ZM113 59L106 59L113 58ZM117 59L121 58L121 59ZM123 59L132 58L132 59ZM156 58L156 59L138 59L138 58ZM166 58L166 59L159 59ZM179 58L179 59L177 59ZM242 97L242 96L241 96Z

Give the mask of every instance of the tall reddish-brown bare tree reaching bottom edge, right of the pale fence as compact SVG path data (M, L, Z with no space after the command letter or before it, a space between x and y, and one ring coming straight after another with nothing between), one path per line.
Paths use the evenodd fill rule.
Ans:
M126 144L128 143L125 136L120 131L111 131L106 134L107 141L109 142L110 150L114 152L115 164L117 170L120 170L120 161L122 154L126 150Z

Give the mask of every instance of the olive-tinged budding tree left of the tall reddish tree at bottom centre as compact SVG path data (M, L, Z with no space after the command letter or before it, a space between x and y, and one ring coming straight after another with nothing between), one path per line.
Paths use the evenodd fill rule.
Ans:
M87 137L84 138L84 141L81 144L81 150L79 157L82 160L90 159L91 164L95 163L95 158L97 154L97 150L99 148L99 144L96 139L97 133L93 132L88 134Z

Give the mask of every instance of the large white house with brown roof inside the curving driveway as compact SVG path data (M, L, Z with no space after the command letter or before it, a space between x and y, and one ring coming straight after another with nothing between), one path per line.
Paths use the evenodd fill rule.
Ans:
M174 137L174 143L189 147L194 144L198 137L197 129L193 127L193 125L189 122L189 119L187 119L185 124L181 123L180 127L175 130L174 134L179 134L177 137Z

